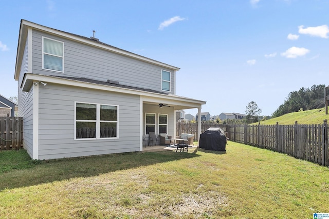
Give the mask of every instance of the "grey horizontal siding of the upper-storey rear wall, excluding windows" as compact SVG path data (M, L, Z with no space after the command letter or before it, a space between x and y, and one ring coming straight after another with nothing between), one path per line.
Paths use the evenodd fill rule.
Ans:
M170 72L170 91L175 93L175 71L109 52L87 44L33 30L32 71L35 74L63 76L63 72L43 68L42 38L64 42L63 72L68 77L86 77L98 81L118 81L121 85L162 91L161 70Z

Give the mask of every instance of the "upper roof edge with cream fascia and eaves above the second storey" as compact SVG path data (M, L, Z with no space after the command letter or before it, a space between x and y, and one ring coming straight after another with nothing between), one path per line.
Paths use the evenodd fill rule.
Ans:
M22 19L21 27L20 27L20 34L19 34L19 44L18 44L18 47L17 47L17 55L16 55L16 57L20 57L20 59L19 58L16 59L16 65L15 65L16 66L15 67L15 79L16 80L19 77L20 69L18 69L18 68L21 67L20 63L22 63L21 58L23 57L22 54L24 52L24 45L25 45L25 44L22 45L21 42L24 42L27 38L28 27L32 27L33 29L37 29L37 30L40 30L40 31L50 32L50 33L53 33L53 34L56 34L56 35L59 35L59 36L65 37L65 38L72 39L74 41L78 41L78 42L83 43L83 44L88 44L88 45L91 45L91 46L100 47L100 48L105 49L105 50L109 50L109 51L112 51L112 52L115 52L115 53L119 53L121 55L125 55L125 56L129 56L129 57L132 57L132 58L135 58L135 59L139 59L139 60L142 60L144 62L149 62L149 63L155 64L155 65L158 65L158 66L163 66L163 67L167 67L169 69L174 69L176 71L178 71L180 69L178 67L168 65L168 64L165 64L165 63L161 63L161 62L156 61L154 59L144 57L144 56L141 56L141 55L138 55L138 54L135 54L135 53L123 50L123 49L119 49L117 47L102 43L100 41L96 41L95 39L91 39L91 38L88 38L88 37L85 37L85 36L80 36L80 35L77 35L77 34L73 34L73 33L65 32L65 31L53 29L53 28L50 28L50 27L35 24L33 22L29 22L29 21L26 21L26 20Z

